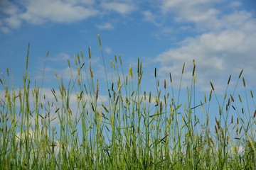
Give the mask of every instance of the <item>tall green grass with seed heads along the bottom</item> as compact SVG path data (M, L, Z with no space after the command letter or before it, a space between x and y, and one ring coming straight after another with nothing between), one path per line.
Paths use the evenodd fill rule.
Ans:
M101 42L100 48L102 51ZM187 102L179 103L185 64L176 97L171 73L170 79L164 80L164 89L160 89L155 69L156 90L146 94L141 88L142 62L138 59L137 72L130 66L125 76L121 57L114 57L111 80L105 67L107 91L99 89L93 77L90 48L89 64L82 51L75 57L77 74L72 74L68 60L69 84L65 86L55 72L59 88L51 89L53 103L42 94L43 80L41 88L36 81L31 88L28 55L23 86L18 91L7 69L11 86L3 74L0 79L5 91L0 101L0 169L256 169L256 108L252 91L254 106L249 106L242 71L235 89L242 79L245 102L235 89L227 94L230 76L222 103L210 82L210 96L205 95L203 102L196 105L194 62ZM103 54L102 61L105 66ZM100 101L99 91L107 94L107 102ZM73 93L76 109L70 106ZM218 102L218 114L210 113L213 96ZM237 105L242 106L242 113ZM198 118L198 107L204 114L202 120ZM215 115L213 128L210 114Z

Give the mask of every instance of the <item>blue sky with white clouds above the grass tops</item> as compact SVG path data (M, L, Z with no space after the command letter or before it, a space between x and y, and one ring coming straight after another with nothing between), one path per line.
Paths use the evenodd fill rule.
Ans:
M116 54L125 74L130 64L136 72L139 57L145 91L156 89L155 67L160 84L169 82L171 72L178 89L185 62L186 94L195 60L198 96L210 93L210 81L223 96L230 74L232 89L242 69L247 89L256 93L255 0L0 0L0 72L6 77L6 68L12 70L20 88L30 42L30 79L42 79L49 50L43 88L51 89L58 86L54 71L68 81L67 60L74 65L74 54L82 50L89 61L91 47L92 70L103 86L98 35L107 68ZM237 90L243 90L242 80ZM3 96L3 86L0 91Z

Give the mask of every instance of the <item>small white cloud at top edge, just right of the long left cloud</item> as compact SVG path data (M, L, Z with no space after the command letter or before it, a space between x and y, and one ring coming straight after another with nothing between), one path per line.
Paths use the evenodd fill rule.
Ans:
M115 11L117 13L127 14L131 13L135 10L132 2L129 3L122 3L122 2L102 2L100 4L102 8L105 8L108 11Z

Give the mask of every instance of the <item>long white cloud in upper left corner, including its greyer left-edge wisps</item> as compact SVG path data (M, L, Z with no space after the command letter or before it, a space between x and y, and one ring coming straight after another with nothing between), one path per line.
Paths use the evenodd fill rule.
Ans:
M1 30L5 33L9 32L7 29L9 27L18 29L23 21L32 24L42 24L47 21L72 23L97 16L99 13L97 9L92 8L94 1L90 0L26 0L18 3L8 0L1 2L0 10L7 16L1 20L4 23Z

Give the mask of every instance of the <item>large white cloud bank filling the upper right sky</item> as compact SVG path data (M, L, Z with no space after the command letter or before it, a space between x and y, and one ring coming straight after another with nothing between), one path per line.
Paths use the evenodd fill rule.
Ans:
M219 14L217 9L209 8L211 5L210 1L187 1L184 6L180 1L164 1L164 12L173 9L177 15L176 21L196 23L207 31L193 38L185 38L179 47L162 52L154 61L161 64L159 72L165 75L171 72L179 79L183 62L186 62L187 69L193 69L192 61L195 59L201 90L208 91L209 81L215 81L215 86L221 91L229 74L239 74L245 68L247 76L256 72L253 60L256 52L256 21L246 11ZM191 74L187 80L191 80ZM251 80L251 83L256 84L256 81Z

